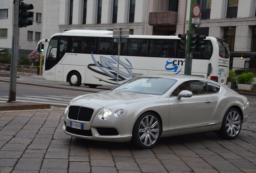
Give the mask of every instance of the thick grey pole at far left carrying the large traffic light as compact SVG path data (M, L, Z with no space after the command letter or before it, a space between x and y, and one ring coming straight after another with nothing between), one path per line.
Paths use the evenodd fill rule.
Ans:
M12 33L12 58L10 68L10 88L9 99L7 102L16 101L16 84L17 84L17 58L19 55L19 0L13 0L14 20Z

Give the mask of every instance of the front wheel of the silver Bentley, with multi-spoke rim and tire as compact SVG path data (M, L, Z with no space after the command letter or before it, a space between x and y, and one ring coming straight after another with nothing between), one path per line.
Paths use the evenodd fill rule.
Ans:
M152 112L142 114L132 131L132 142L141 149L152 148L161 135L161 122Z

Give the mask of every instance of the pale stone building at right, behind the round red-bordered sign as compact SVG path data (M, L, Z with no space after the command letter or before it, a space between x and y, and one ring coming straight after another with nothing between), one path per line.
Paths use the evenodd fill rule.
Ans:
M233 70L256 69L256 54L248 53L256 52L256 0L198 0L197 3L202 13L196 34L227 40L231 53L234 52L230 59ZM187 11L186 30L190 8Z

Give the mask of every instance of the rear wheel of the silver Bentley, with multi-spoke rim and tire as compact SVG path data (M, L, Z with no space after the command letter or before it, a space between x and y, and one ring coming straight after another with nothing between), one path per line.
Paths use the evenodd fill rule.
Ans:
M223 118L221 129L217 135L222 139L235 139L242 128L242 117L235 108L229 109Z

